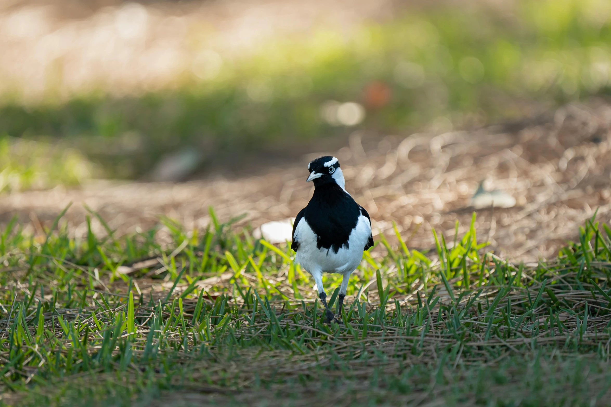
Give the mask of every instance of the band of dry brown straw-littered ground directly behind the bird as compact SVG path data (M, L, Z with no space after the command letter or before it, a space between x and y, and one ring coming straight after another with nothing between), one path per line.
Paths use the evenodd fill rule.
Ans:
M611 220L610 129L611 104L596 100L564 106L522 126L388 136L373 147L355 132L349 146L330 153L342 163L348 191L370 212L375 233L392 238L394 221L410 247L432 248L431 228L452 241L456 220L459 234L468 227L470 196L487 179L518 203L478 210L479 239L488 238L509 258L536 261L576 237L597 208L599 220ZM305 206L312 193L312 184L304 182L311 158L235 179L98 182L78 190L12 193L0 197L0 214L3 222L18 214L39 234L70 202L67 220L76 235L86 232L82 204L122 233L153 226L162 214L186 228L203 228L210 222L209 206L221 220L247 214L241 224L258 226L295 216ZM101 225L93 226L103 233Z

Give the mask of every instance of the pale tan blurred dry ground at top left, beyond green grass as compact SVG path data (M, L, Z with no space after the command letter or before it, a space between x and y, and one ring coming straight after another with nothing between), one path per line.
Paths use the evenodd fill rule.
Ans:
M349 29L391 15L394 3L2 0L0 95L32 103L102 89L112 96L168 90L214 79L271 38Z

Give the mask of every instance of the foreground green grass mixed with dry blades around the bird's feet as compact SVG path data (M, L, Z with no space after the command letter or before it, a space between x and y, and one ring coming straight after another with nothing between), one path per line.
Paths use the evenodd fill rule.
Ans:
M389 251L365 253L343 323L325 325L290 248L212 218L192 235L163 219L169 247L155 230L74 240L65 226L37 243L10 223L0 234L0 403L163 405L160 391L203 386L236 392L218 400L227 405L333 392L355 405L580 405L611 384L611 230L594 219L534 266L486 253L475 222L450 245L436 233L436 253L379 236ZM158 261L135 270L147 258ZM119 265L134 266L125 281ZM330 303L339 284L327 277Z

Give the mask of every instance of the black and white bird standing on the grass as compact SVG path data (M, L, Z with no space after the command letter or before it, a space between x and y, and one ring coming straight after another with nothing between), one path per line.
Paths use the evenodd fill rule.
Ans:
M371 218L346 192L337 158L318 157L307 169L310 175L305 182L314 182L314 193L295 218L291 248L297 252L296 261L314 278L327 322L331 322L337 319L327 306L323 273L343 275L337 303L340 315L350 275L363 258L363 251L373 246Z

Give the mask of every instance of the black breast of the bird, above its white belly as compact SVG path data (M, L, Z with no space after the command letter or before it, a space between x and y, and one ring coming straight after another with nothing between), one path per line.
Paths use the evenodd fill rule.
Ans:
M316 187L304 211L305 222L318 237L316 247L334 253L349 248L348 238L359 216L358 204L335 183Z

